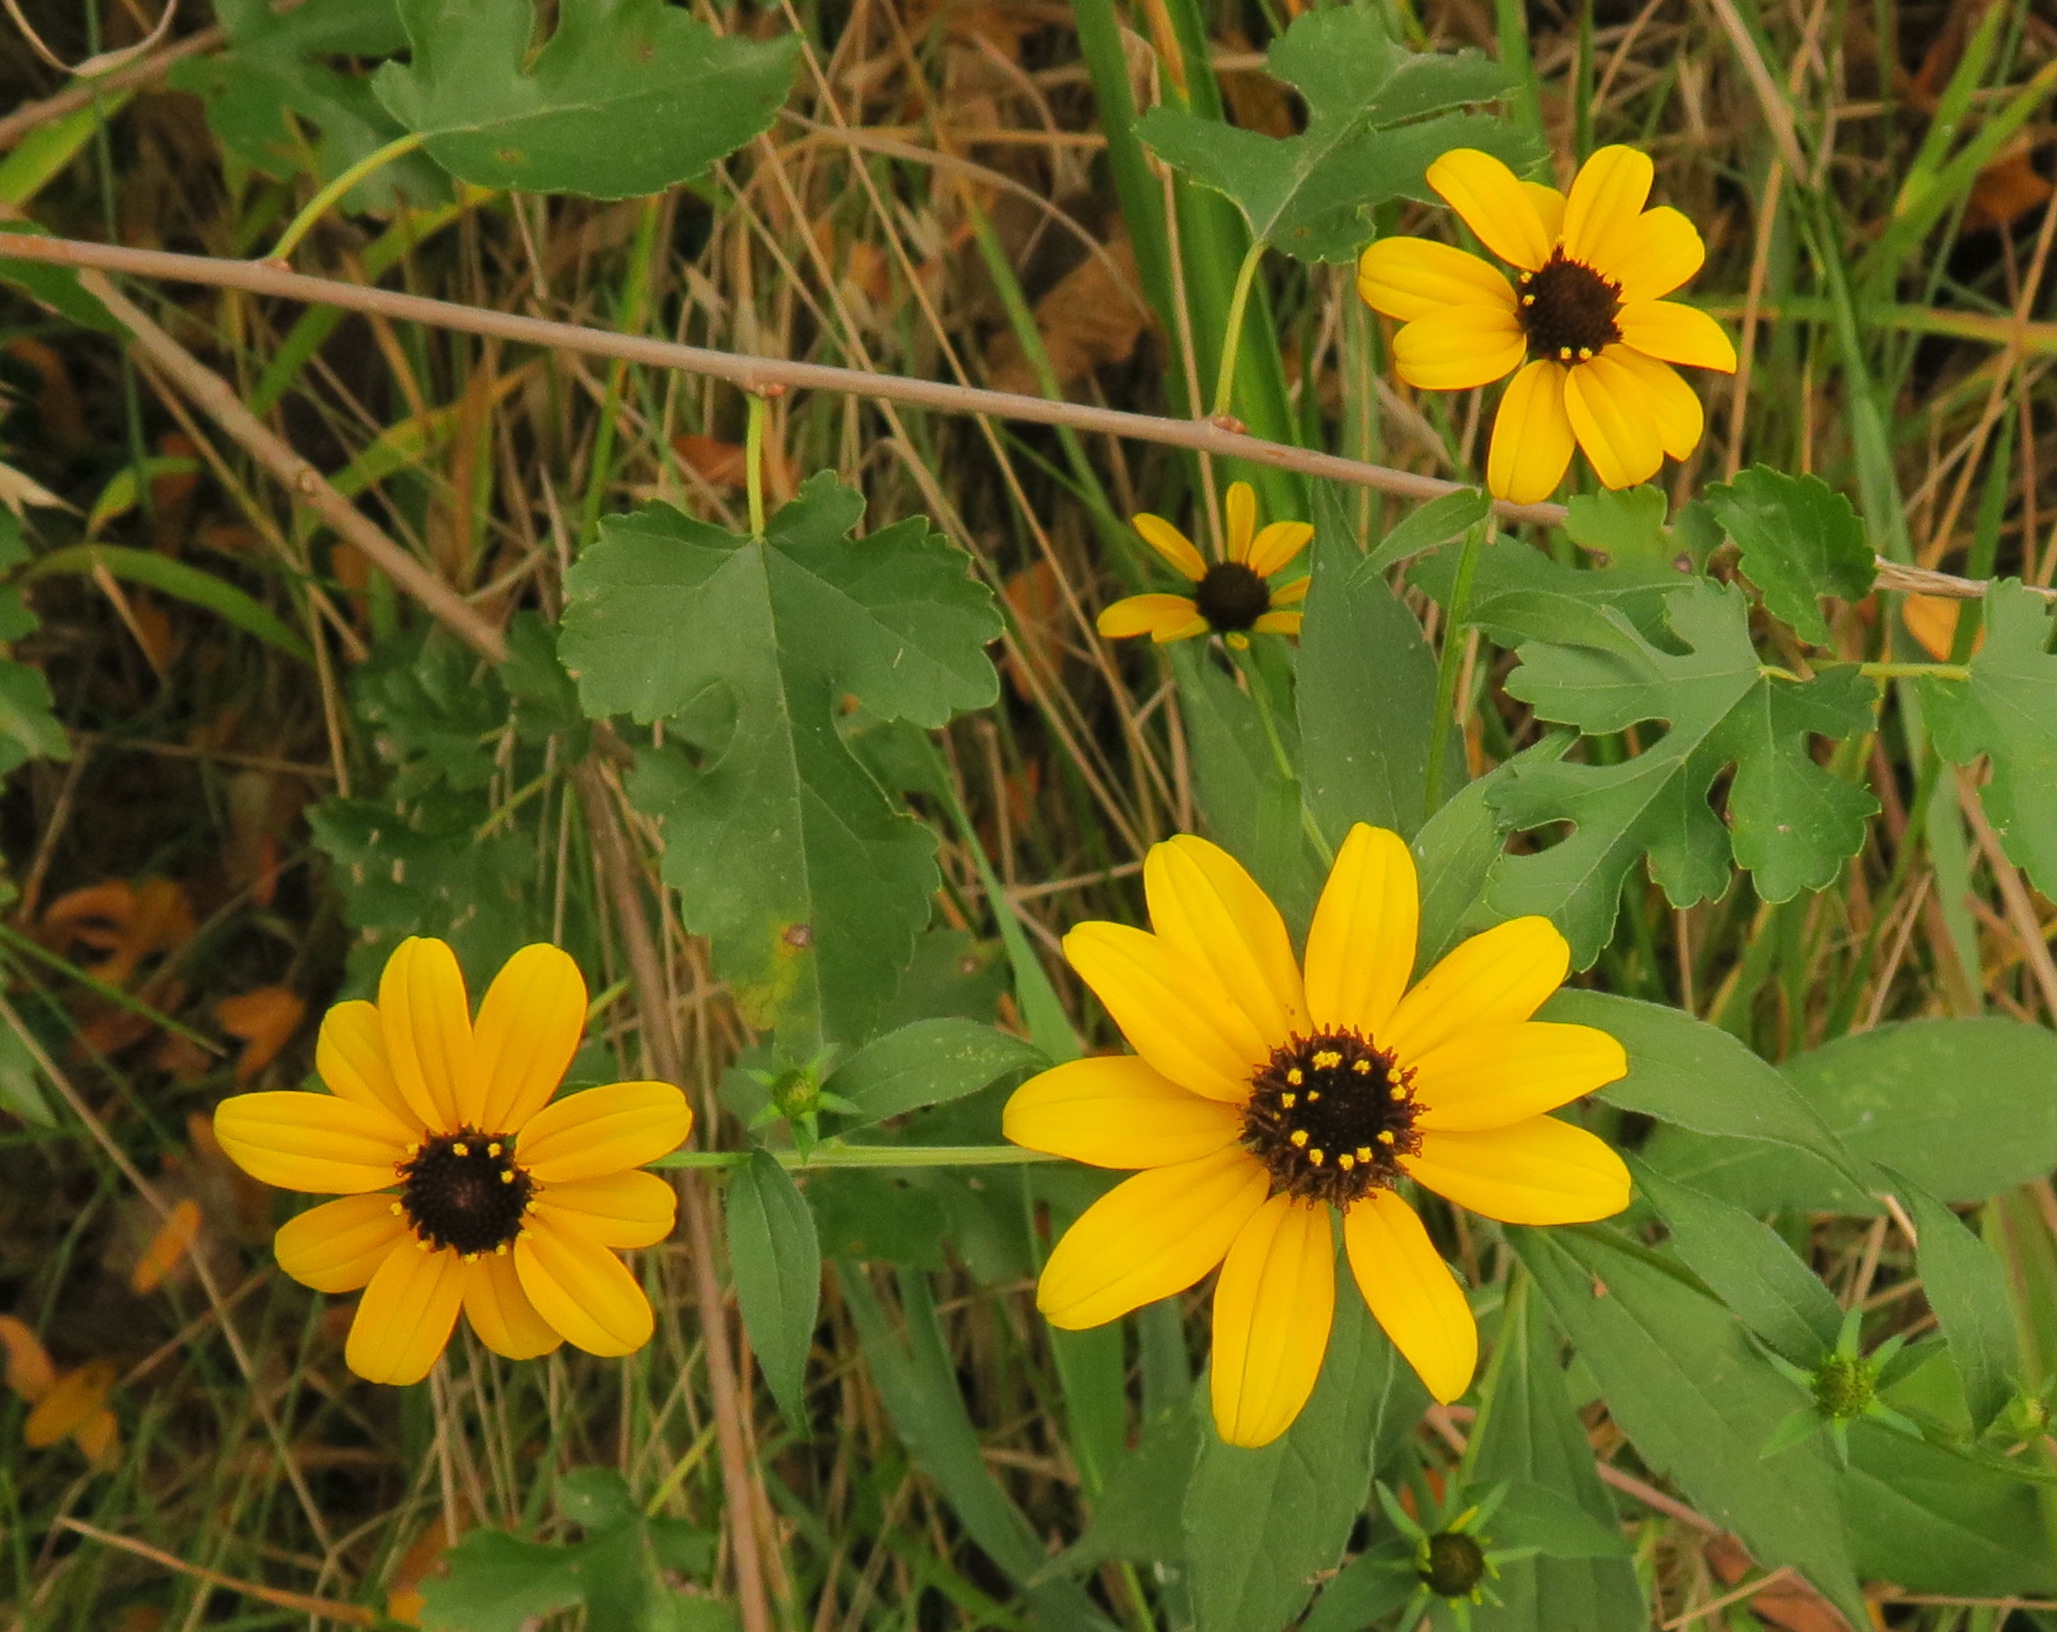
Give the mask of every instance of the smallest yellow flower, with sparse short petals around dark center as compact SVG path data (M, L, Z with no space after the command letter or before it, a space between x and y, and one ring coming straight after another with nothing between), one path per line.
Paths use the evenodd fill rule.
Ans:
M1193 584L1193 593L1129 595L1115 601L1100 613L1100 634L1109 640L1148 634L1162 646L1166 640L1214 630L1236 650L1251 644L1251 630L1300 634L1300 613L1277 607L1298 607L1306 599L1306 578L1279 591L1265 580L1306 549L1314 529L1304 521L1273 521L1259 533L1257 494L1249 482L1230 484L1222 512L1228 521L1228 560L1212 566L1164 517L1129 517L1144 543L1170 562L1172 572Z

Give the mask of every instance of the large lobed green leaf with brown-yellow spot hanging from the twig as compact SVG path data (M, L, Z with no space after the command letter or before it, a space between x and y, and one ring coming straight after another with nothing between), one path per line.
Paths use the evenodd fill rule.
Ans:
M919 517L854 541L862 510L827 473L763 539L652 504L566 574L586 712L666 720L695 751L644 753L629 790L664 819L685 922L788 1058L870 1033L940 885L936 836L843 743L845 698L940 726L998 696L1000 617L967 558Z

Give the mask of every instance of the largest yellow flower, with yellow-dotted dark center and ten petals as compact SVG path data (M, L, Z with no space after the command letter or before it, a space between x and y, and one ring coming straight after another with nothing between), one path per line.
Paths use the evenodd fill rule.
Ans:
M1512 1225L1604 1218L1621 1157L1545 1111L1613 1083L1611 1035L1530 1015L1569 947L1547 918L1473 936L1411 990L1419 899L1407 844L1358 825L1306 936L1228 852L1150 850L1154 934L1080 924L1063 955L1135 1048L1024 1083L1006 1134L1094 1167L1138 1167L1086 1208L1037 1286L1053 1325L1117 1319L1218 1264L1214 1420L1267 1445L1300 1414L1335 1315L1335 1237L1372 1315L1438 1399L1471 1383L1479 1334L1395 1187L1411 1179Z

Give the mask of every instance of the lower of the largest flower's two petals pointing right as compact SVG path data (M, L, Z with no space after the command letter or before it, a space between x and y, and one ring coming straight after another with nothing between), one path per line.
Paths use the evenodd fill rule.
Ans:
M1438 1196L1504 1225L1584 1225L1629 1204L1615 1148L1551 1115L1475 1134L1421 1134L1401 1167Z

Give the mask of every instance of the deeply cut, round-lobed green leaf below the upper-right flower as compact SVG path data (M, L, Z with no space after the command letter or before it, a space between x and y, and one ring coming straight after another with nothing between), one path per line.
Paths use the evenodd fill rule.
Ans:
M1508 691L1545 720L1588 737L1662 720L1664 735L1619 764L1522 766L1493 805L1510 827L1569 821L1576 831L1537 856L1512 856L1493 887L1506 916L1547 914L1580 967L1615 928L1639 856L1672 906L1718 899L1728 856L1757 893L1785 901L1825 889L1864 844L1878 809L1868 788L1823 770L1812 737L1872 724L1874 687L1855 667L1796 683L1767 675L1751 644L1748 603L1734 587L1691 584L1666 603L1683 657L1650 644L1619 613L1600 613L1584 644L1520 648ZM1734 766L1728 823L1707 803Z

